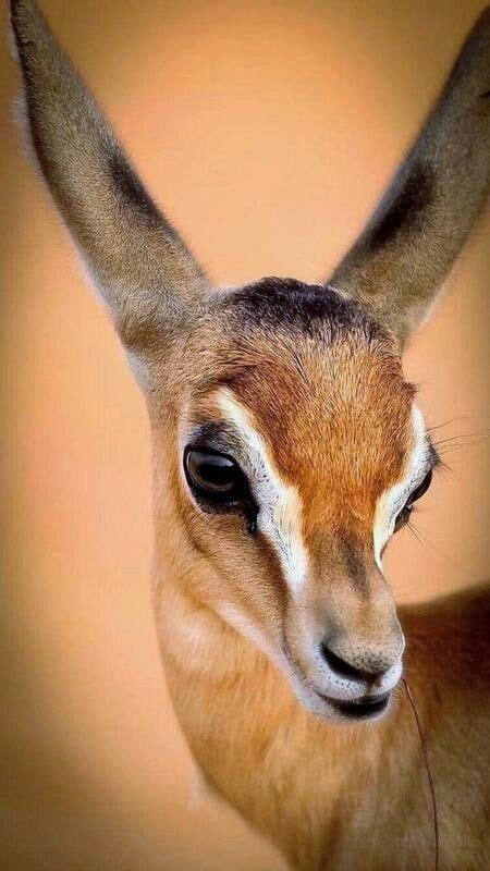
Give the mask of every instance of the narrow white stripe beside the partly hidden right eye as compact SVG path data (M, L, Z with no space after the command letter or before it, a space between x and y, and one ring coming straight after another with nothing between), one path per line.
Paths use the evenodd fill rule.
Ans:
M393 535L397 514L402 511L409 494L421 483L427 474L430 444L424 415L417 405L412 407L412 424L414 432L414 446L403 478L397 481L378 500L375 513L375 557L381 568L381 553L390 537Z

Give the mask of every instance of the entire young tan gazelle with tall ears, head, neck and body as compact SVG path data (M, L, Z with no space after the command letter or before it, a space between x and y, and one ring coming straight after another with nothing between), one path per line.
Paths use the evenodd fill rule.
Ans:
M401 353L489 189L490 9L331 280L223 291L35 3L12 25L35 155L147 398L158 635L207 782L293 868L427 871L404 658L440 868L488 868L489 596L396 613L382 553L438 465Z

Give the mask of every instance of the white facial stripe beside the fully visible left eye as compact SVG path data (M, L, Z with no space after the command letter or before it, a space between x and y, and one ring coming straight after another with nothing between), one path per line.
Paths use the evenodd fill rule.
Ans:
M254 471L250 487L259 507L258 529L273 547L287 586L296 592L305 582L308 564L302 538L299 494L282 480L246 406L228 388L218 391L217 400L247 446L248 464Z

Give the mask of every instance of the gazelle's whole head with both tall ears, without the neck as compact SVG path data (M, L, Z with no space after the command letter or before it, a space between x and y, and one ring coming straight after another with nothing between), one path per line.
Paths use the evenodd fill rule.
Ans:
M404 649L382 553L438 463L401 353L488 193L490 11L331 280L222 291L35 3L12 25L38 163L147 397L157 548L314 713L380 714Z

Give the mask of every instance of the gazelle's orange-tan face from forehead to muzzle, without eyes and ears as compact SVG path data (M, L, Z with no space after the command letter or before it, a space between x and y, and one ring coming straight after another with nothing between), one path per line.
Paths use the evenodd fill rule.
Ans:
M213 356L206 336L205 384L187 396L177 444L167 450L186 545L219 578L217 597L209 585L193 596L259 643L309 710L333 717L323 697L377 695L401 675L403 634L376 526L385 493L413 474L425 441L389 335L356 323L348 306L342 314L352 328L320 323L307 335L283 323L273 343L242 322L240 336L229 330L215 342ZM235 361L236 344L246 365ZM258 507L253 537L240 513L203 512L185 481L185 444L208 425L223 429L220 449L247 477ZM332 672L323 640L359 675Z

